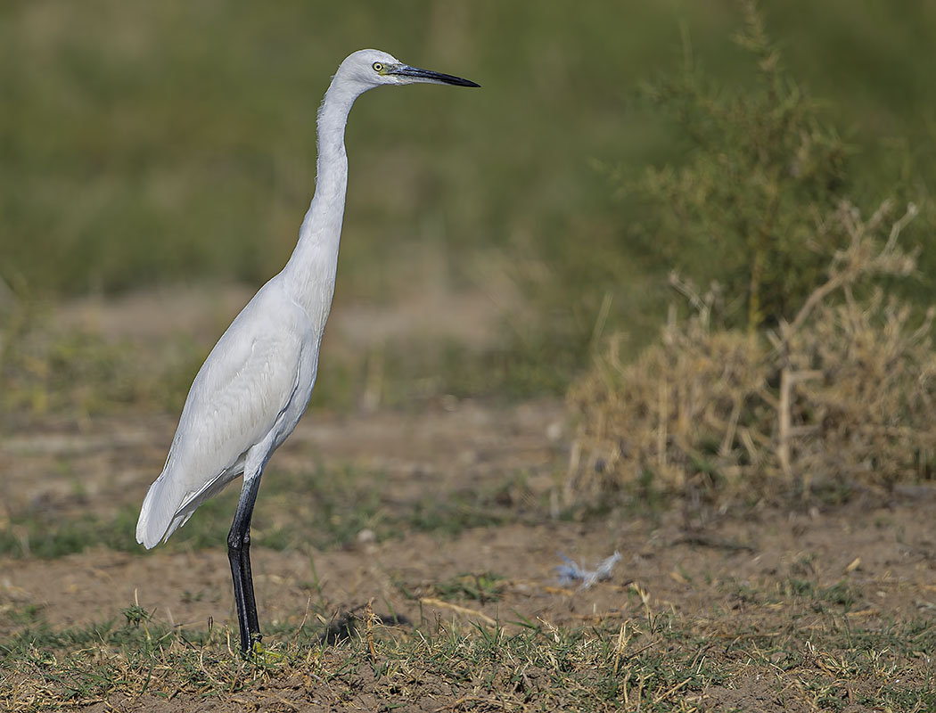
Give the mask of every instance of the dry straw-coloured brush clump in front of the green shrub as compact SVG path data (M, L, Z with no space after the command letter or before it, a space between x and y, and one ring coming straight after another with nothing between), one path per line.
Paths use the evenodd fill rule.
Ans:
M933 309L922 319L874 276L905 277L897 244L913 206L888 221L843 204L820 231L843 247L791 321L742 332L713 325L720 295L675 276L693 314L675 311L633 363L617 340L570 392L581 415L566 496L648 483L670 491L769 496L818 485L892 487L929 477L936 454ZM889 226L886 240L879 240Z

